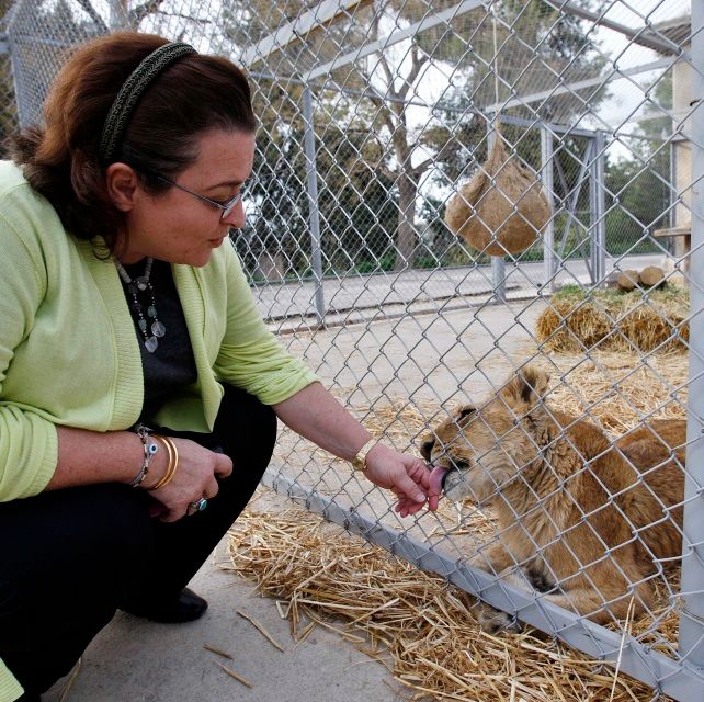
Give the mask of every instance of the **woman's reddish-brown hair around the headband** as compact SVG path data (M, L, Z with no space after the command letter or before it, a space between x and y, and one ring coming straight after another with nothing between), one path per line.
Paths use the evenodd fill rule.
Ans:
M81 239L101 235L115 250L123 214L105 191L99 144L107 112L138 64L167 39L118 32L80 46L65 64L44 104L44 127L11 139L11 154L30 184L54 205L64 226ZM135 168L149 192L170 185L197 158L209 129L253 133L249 84L229 60L190 54L166 68L140 98L113 161Z

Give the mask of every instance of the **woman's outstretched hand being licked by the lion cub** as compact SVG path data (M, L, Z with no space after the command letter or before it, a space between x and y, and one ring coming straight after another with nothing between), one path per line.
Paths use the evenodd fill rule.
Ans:
M364 475L398 497L395 509L401 517L415 514L425 503L430 510L438 509L439 496L431 490L430 471L416 456L377 443L366 454Z

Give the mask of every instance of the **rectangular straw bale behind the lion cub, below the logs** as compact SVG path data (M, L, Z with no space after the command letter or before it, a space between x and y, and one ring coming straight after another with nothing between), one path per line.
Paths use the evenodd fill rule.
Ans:
M685 351L689 341L689 291L675 283L645 293L557 291L536 322L536 338L547 351Z

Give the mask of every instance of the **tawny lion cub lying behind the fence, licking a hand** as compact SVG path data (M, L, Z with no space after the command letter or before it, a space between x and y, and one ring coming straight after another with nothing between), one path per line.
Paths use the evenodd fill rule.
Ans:
M491 505L498 540L474 564L598 623L652 605L647 579L681 555L685 422L654 421L614 444L541 399L548 375L525 367L478 409L459 408L421 453L455 501ZM509 619L481 607L485 629Z

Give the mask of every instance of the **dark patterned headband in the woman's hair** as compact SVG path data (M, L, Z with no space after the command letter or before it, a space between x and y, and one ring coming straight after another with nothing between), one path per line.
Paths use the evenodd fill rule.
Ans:
M112 162L135 107L154 79L174 61L189 54L196 53L191 45L181 42L164 44L149 54L132 71L129 78L120 89L115 102L113 102L105 118L99 150L102 163L109 165Z

